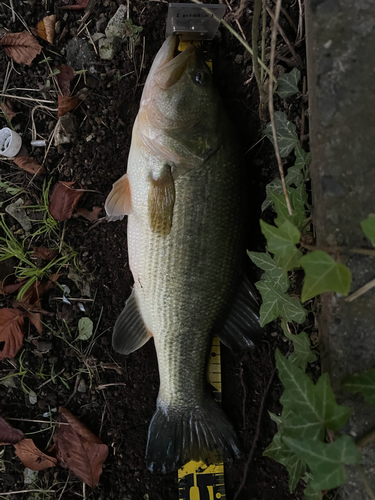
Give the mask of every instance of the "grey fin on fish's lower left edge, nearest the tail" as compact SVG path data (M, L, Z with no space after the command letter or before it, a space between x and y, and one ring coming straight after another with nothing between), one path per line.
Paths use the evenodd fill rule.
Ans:
M142 347L151 336L142 319L133 290L115 323L112 346L121 354L130 354Z

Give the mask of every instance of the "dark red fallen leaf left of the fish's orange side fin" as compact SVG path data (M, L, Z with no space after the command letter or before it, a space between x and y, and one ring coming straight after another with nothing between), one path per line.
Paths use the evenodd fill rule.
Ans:
M55 220L68 220L72 216L74 209L81 196L84 193L83 189L73 189L74 182L59 181L55 184L50 201L49 213Z

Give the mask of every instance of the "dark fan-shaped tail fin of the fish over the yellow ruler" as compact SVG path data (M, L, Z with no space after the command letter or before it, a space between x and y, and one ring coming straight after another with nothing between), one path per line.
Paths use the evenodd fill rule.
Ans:
M174 408L158 401L148 430L147 467L171 472L190 460L213 463L241 455L236 433L219 405L207 395L203 406Z

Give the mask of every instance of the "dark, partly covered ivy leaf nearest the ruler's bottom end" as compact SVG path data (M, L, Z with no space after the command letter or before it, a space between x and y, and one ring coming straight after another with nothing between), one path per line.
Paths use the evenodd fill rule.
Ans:
M265 457L273 458L273 460L287 469L289 473L289 491L290 493L293 493L298 481L306 471L305 462L302 461L290 448L285 446L279 432L275 434L272 443L267 446L263 455Z

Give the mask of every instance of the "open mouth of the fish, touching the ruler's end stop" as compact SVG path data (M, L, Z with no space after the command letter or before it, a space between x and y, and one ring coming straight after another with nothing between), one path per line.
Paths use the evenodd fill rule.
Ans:
M182 52L178 51L178 45L178 36L170 35L160 49L162 57L157 61L159 64L154 78L161 89L168 89L179 82L189 63L195 58L195 45L189 45Z

